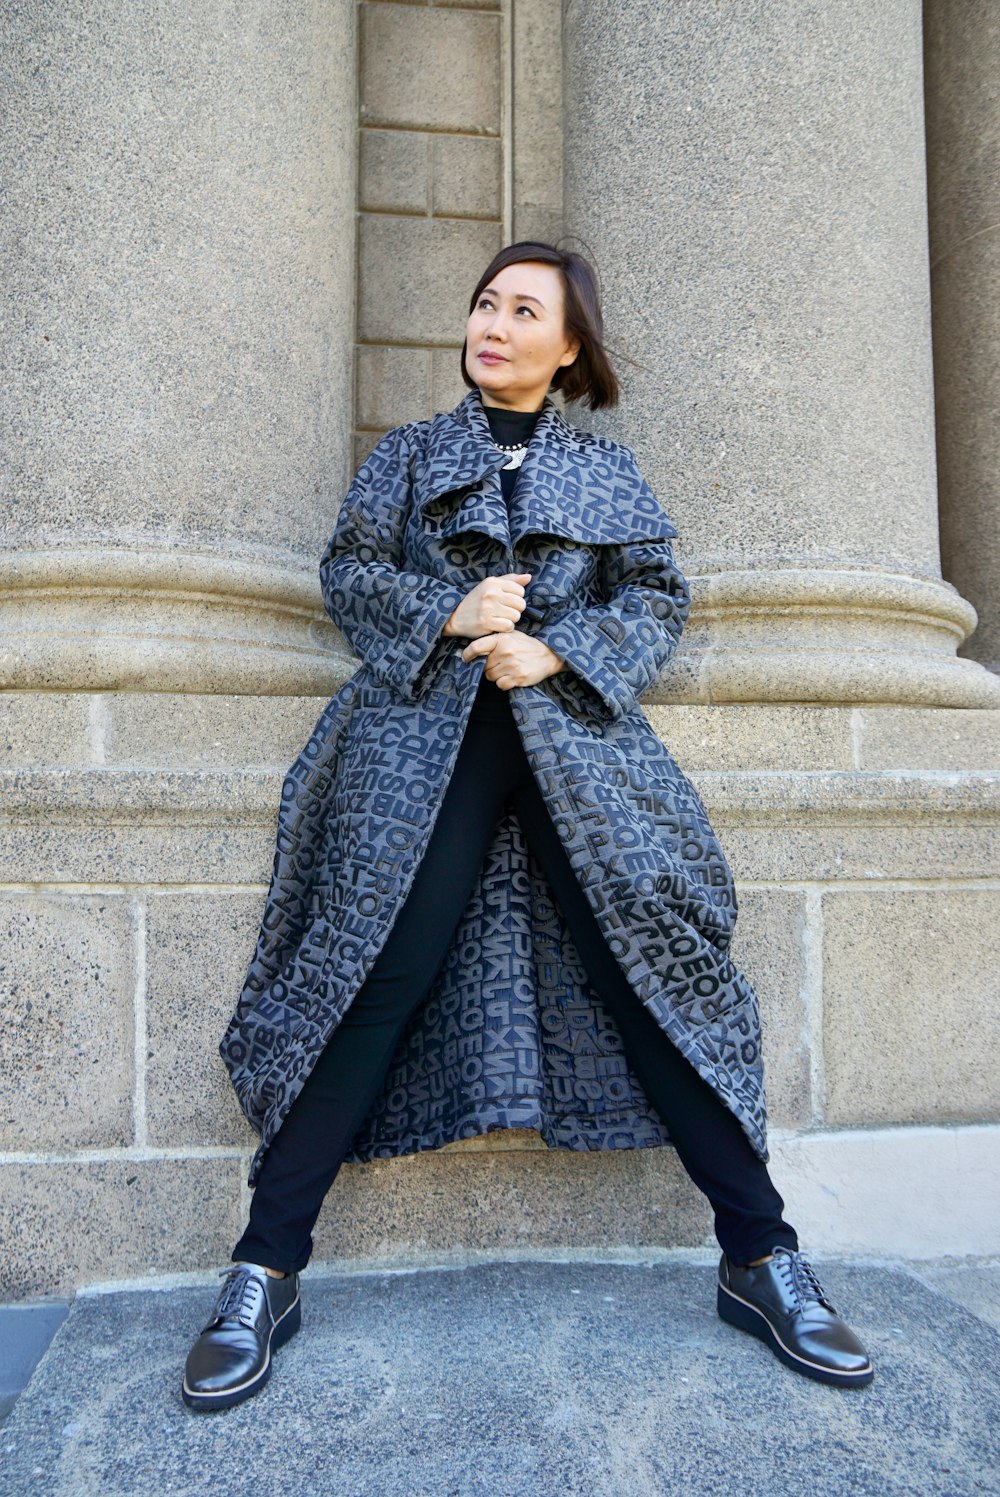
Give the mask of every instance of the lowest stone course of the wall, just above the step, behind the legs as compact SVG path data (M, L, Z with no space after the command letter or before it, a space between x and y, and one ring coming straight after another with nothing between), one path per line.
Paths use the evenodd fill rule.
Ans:
M247 1157L0 1162L4 1199L15 1202L0 1231L0 1287L16 1299L217 1266L241 1226ZM771 1130L771 1174L807 1251L996 1254L1000 1198L985 1186L999 1172L1000 1124ZM124 1232L114 1226L123 1222ZM346 1165L320 1216L316 1268L537 1250L711 1253L711 1243L710 1214L672 1148L436 1150Z

